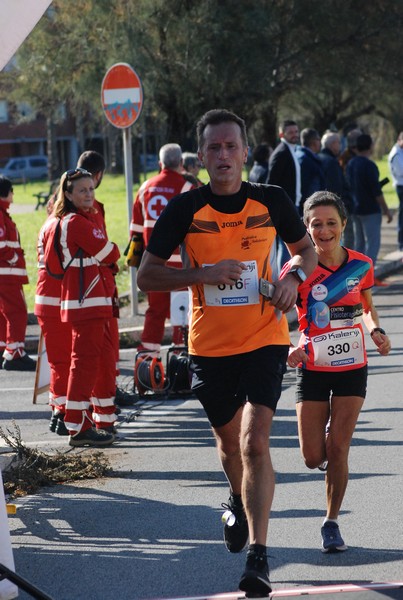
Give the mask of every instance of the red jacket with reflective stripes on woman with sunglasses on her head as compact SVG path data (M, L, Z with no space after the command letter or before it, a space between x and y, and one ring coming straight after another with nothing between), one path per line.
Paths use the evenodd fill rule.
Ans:
M104 269L120 256L116 244L106 239L105 232L91 221L90 213L78 212L61 219L60 246L63 266L69 265L61 281L61 320L111 318L112 294ZM54 248L49 248L49 253L57 259Z

